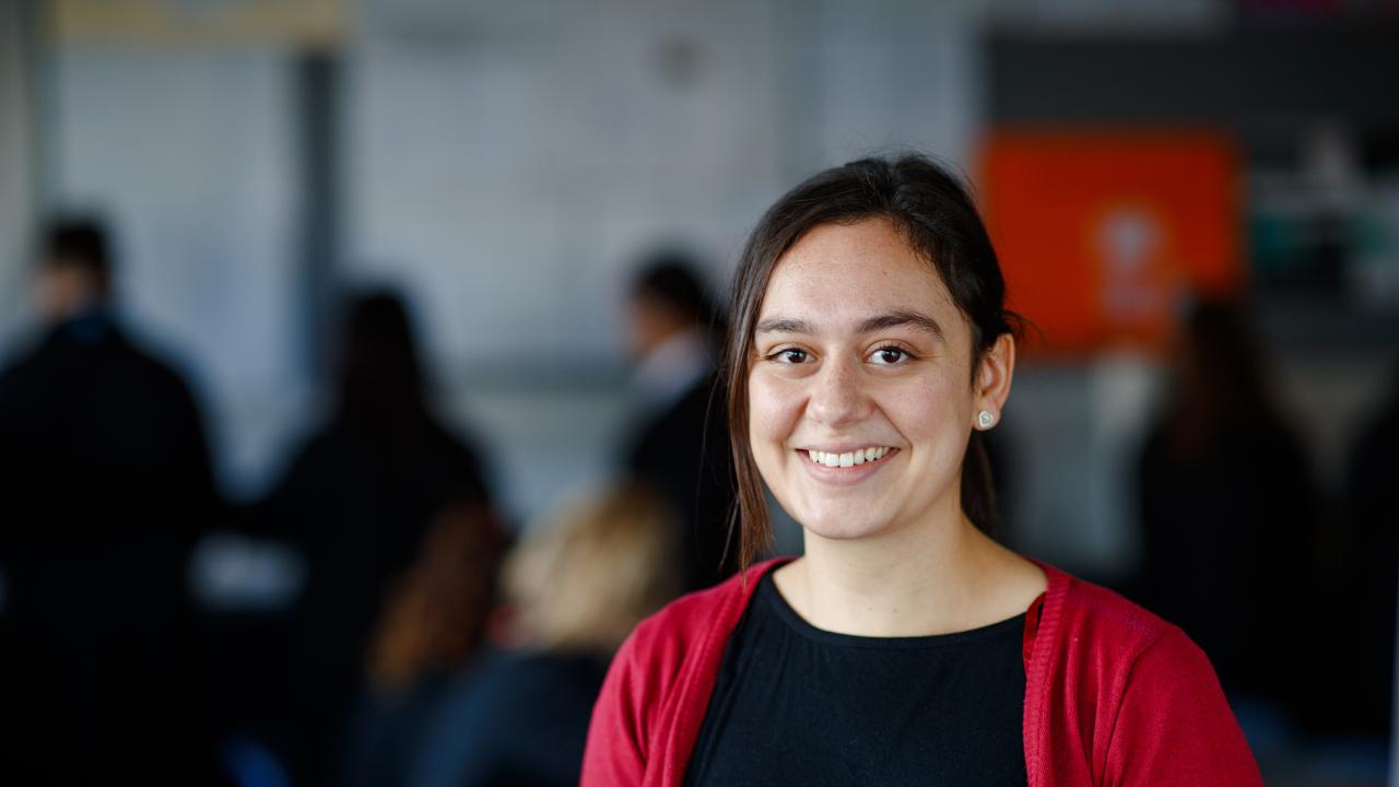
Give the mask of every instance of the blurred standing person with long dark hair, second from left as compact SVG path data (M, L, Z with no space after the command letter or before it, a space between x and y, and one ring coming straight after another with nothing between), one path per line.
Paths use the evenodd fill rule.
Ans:
M382 599L435 517L485 504L477 452L428 403L403 300L347 300L327 424L295 451L257 525L298 548L305 591L294 612L278 748L298 784L326 783L364 674ZM277 734L274 734L276 737Z

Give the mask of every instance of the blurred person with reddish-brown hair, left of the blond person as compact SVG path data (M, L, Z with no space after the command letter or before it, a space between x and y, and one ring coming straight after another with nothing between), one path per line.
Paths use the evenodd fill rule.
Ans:
M439 697L483 646L504 538L474 504L443 513L422 539L375 627L340 784L404 783Z

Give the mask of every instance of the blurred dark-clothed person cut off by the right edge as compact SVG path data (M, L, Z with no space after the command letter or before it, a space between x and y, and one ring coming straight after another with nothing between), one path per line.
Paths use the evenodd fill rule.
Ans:
M1399 371L1399 370L1396 370ZM1399 374L1388 401L1361 429L1350 455L1347 503L1350 545L1346 602L1339 605L1346 626L1350 690L1340 710L1356 732L1389 741L1393 713L1395 616L1399 594Z

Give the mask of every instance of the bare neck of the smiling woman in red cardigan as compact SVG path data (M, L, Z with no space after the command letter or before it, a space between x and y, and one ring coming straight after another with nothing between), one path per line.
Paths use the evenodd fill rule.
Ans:
M877 538L825 539L774 574L788 604L818 629L866 637L946 634L1024 612L1044 574L977 529L958 508L936 524Z

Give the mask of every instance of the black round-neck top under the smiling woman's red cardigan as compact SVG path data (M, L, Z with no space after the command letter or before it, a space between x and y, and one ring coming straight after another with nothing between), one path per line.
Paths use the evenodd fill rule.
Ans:
M835 634L767 574L729 640L686 784L1025 784L1024 622Z

